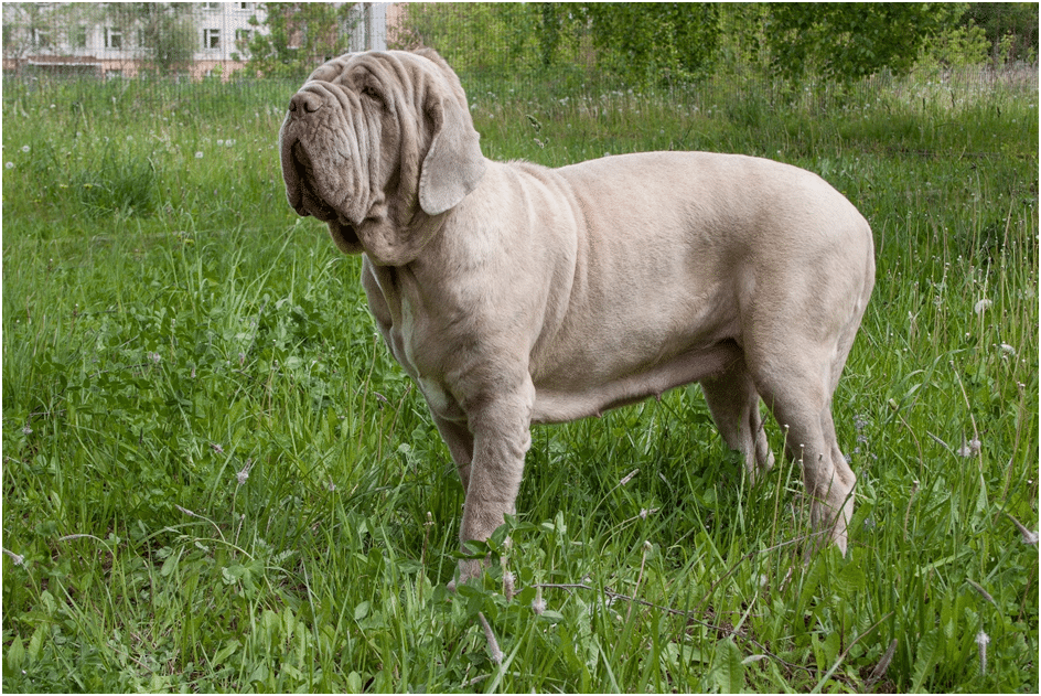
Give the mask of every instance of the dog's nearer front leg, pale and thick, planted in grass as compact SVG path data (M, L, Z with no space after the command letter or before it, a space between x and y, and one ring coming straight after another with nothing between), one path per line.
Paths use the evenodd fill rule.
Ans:
M505 515L515 512L524 457L532 446L534 395L535 389L527 382L525 388L482 399L479 406L468 409L473 460L459 532L461 546L486 540L503 524ZM465 582L481 574L482 564L463 560L459 570L460 582Z

